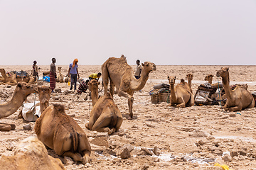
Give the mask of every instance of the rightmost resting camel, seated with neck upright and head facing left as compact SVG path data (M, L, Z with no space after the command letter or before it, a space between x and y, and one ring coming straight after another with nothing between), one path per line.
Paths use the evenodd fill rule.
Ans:
M228 67L223 67L216 73L217 77L222 77L227 101L223 106L225 111L242 111L244 108L253 108L255 100L247 91L246 86L236 86L235 89L230 88L230 79Z

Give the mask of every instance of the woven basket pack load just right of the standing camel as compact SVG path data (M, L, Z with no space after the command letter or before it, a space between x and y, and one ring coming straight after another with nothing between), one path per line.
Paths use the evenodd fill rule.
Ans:
M151 103L170 103L170 85L169 84L156 84L153 90L149 91L151 96Z

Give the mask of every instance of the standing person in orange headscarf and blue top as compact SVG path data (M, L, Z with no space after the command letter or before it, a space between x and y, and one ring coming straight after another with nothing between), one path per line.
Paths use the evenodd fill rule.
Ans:
M78 79L79 79L78 59L75 59L73 61L73 63L70 63L70 66L68 69L68 77L70 77L70 81L71 81L70 90L73 89L73 84L74 84L74 91L75 91L76 90L76 81L78 81Z

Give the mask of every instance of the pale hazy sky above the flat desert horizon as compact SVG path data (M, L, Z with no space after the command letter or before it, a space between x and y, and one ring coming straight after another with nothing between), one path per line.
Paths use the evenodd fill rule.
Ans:
M0 65L256 63L252 0L0 0Z

